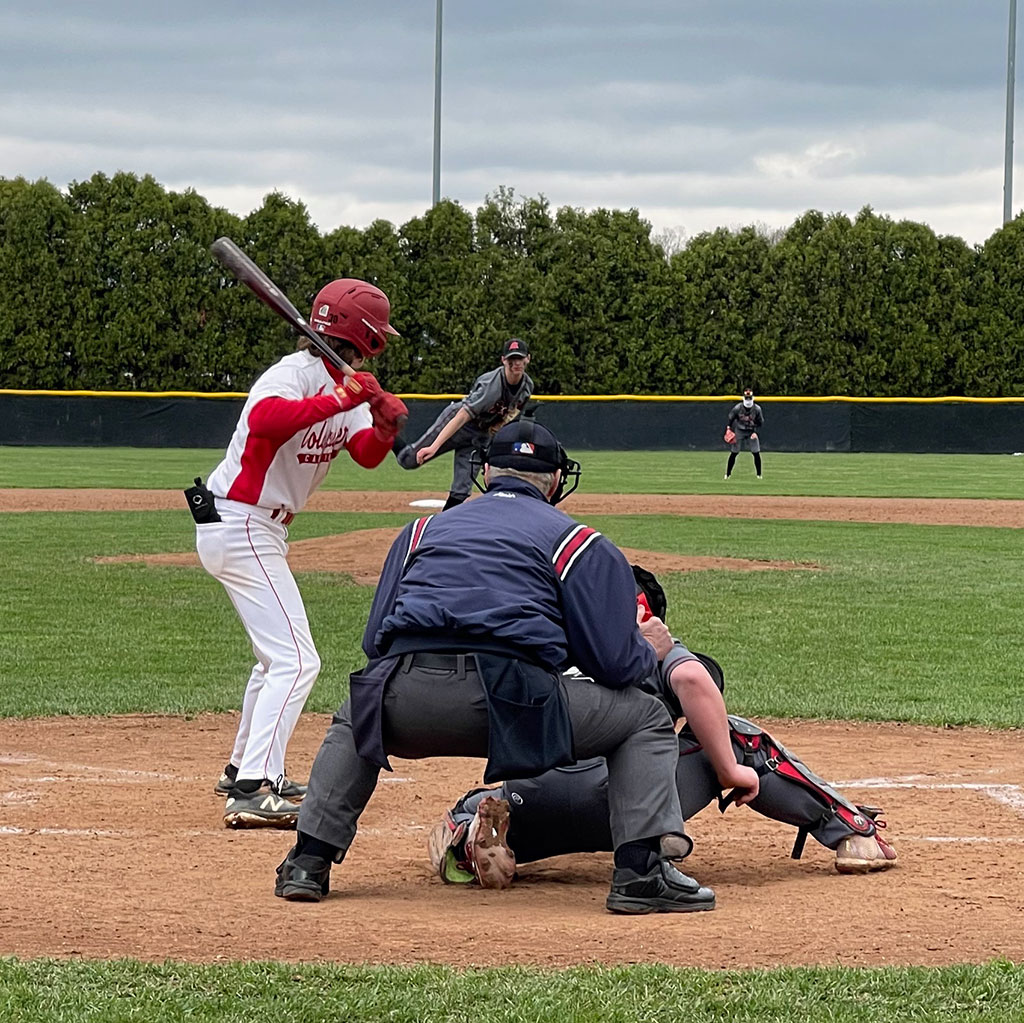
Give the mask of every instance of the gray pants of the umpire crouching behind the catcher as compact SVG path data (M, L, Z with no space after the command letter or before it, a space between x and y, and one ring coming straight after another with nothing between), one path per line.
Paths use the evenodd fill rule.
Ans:
M406 654L384 690L384 749L390 756L487 756L487 705L471 656L445 670ZM679 742L665 706L629 687L561 680L578 759L608 762L608 811L614 848L682 834L676 790ZM349 702L335 714L309 776L298 829L336 846L341 856L355 837L380 768L355 752ZM339 857L340 862L340 857Z

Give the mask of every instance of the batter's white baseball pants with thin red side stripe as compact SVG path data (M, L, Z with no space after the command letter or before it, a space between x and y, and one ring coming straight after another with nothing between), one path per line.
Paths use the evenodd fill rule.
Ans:
M286 555L288 530L262 509L217 502L220 522L196 527L203 567L227 591L256 655L231 763L244 779L279 779L321 659ZM231 502L230 504L234 504Z

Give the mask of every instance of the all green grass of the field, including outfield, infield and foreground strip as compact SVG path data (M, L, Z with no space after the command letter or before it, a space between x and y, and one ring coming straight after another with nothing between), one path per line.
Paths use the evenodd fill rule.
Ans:
M0 486L186 485L218 453L0 449ZM741 456L726 487L709 453L583 453L585 488L1024 499L1009 457ZM742 461L746 459L746 463ZM450 460L418 473L345 465L355 489L446 489ZM762 489L763 487L763 489ZM300 516L291 539L399 525L409 515ZM667 577L670 625L715 654L732 710L752 716L1024 727L1018 529L663 516L591 518L616 543L678 554L794 561L792 571ZM0 515L0 715L195 713L237 708L250 666L220 587L198 568L96 564L193 549L181 512ZM325 671L307 705L333 709L359 662L372 591L300 578ZM2 820L0 820L2 823ZM642 922L638 922L642 928ZM325 950L330 955L330 950ZM560 973L130 962L0 961L0 1020L1019 1021L1024 971Z

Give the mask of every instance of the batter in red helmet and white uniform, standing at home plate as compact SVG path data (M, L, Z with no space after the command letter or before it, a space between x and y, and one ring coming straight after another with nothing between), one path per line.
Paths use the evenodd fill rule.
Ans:
M390 310L379 288L342 279L317 294L310 324L358 371L398 333ZM227 827L292 827L305 795L286 776L285 753L321 660L285 559L288 525L341 452L380 465L407 413L372 374L345 377L300 341L253 384L207 485L197 477L185 492L203 567L227 591L256 655L215 787Z

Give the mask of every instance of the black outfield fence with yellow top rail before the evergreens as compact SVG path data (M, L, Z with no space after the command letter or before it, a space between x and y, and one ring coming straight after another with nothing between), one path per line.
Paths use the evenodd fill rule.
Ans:
M461 395L402 395L415 438ZM720 451L736 397L545 397L538 421L580 451ZM224 447L244 394L0 391L0 444ZM1024 451L1024 398L758 397L766 451Z

